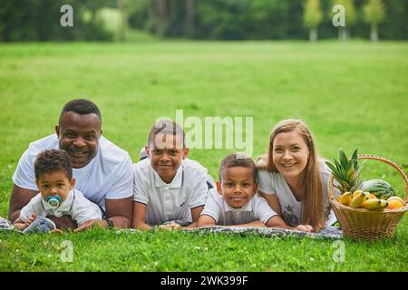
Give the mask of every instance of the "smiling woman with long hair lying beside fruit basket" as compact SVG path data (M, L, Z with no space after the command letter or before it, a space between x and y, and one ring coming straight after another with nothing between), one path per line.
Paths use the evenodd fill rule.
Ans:
M280 121L270 134L267 155L257 159L258 191L287 225L310 231L335 223L330 208L330 172L320 160L306 123Z

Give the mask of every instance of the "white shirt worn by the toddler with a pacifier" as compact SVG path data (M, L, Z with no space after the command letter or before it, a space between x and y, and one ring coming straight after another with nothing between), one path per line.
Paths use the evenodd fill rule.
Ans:
M76 221L78 226L81 226L85 221L90 219L102 219L101 209L84 198L81 191L75 189L68 193L67 198L58 208L50 208L48 203L41 197L41 193L37 194L21 209L20 219L25 222L33 213L44 218L47 216L56 218L70 216L71 219Z

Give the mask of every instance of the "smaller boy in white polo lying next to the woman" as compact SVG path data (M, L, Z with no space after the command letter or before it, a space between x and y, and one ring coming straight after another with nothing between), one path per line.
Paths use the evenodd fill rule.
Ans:
M257 194L257 168L244 154L221 161L217 189L212 190L199 217L198 227L287 227L282 218Z

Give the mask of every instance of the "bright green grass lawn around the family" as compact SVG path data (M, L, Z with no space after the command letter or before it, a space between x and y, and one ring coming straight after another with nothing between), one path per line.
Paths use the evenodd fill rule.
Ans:
M144 42L0 44L0 216L28 143L53 132L63 104L85 97L102 110L103 134L137 160L160 116L254 118L253 157L266 152L285 118L310 125L317 149L337 158L355 148L408 168L408 43ZM190 150L215 177L233 150ZM404 196L391 167L369 161L365 178L383 178ZM332 241L193 233L31 236L0 233L4 271L407 271L408 218L395 237ZM60 260L73 242L73 263ZM196 248L199 247L199 248ZM206 249L207 248L207 249Z

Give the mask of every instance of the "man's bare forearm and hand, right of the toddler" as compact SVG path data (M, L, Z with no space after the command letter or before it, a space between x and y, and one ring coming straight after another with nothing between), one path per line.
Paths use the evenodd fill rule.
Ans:
M105 198L106 219L112 221L113 227L124 228L131 227L131 203L133 197L107 199ZM108 221L103 219L90 219L85 221L81 227L74 230L75 233L86 229L91 229L93 225L99 227L109 227Z

